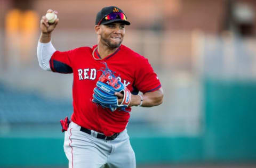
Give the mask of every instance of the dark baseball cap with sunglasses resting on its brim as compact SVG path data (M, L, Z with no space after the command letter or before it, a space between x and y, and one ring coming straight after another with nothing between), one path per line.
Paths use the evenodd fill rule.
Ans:
M103 7L100 12L97 13L95 24L108 24L113 22L123 22L126 25L130 25L129 21L126 21L126 15L124 12L116 6Z

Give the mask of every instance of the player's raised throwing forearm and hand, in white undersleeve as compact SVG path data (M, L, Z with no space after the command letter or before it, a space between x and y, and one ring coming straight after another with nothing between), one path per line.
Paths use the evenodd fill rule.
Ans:
M52 10L48 10L47 12L57 13ZM40 21L41 35L37 45L37 58L39 66L45 71L51 71L49 61L53 53L56 51L51 43L51 33L57 26L58 21L59 19L56 19L53 24L49 24L45 16L42 16Z

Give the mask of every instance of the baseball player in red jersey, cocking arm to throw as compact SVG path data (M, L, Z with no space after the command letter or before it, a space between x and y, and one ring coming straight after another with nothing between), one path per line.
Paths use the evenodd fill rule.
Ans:
M135 167L126 130L131 107L161 104L163 90L148 60L122 45L130 22L118 7L104 7L94 26L98 44L60 52L51 43L58 21L42 16L37 57L43 70L73 73L74 112L71 122L61 121L69 167Z

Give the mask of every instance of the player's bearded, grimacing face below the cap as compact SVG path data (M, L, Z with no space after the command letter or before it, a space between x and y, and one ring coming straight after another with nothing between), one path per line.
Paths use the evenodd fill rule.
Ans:
M121 45L124 38L125 28L123 23L110 23L101 25L100 42L114 49Z

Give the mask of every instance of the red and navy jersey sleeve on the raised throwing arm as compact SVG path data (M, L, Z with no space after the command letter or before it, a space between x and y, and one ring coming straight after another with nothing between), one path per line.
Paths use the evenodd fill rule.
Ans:
M72 60L75 50L66 52L55 51L49 61L52 72L73 73Z

